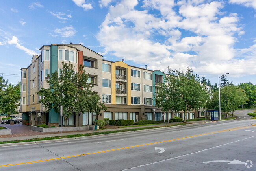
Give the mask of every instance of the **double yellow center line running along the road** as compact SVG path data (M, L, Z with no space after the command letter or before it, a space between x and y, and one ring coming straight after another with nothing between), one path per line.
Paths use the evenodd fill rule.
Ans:
M224 130L221 130L221 131L208 132L208 133L204 133L204 134L198 134L198 135L193 135L193 136L186 136L186 137L182 137L182 138L175 138L175 139L165 140L165 141L160 141L160 142L153 142L153 143L147 143L147 144L141 144L141 145L134 145L134 146L122 147L122 148L118 148L118 149L97 151L97 152L93 152L93 153L78 154L78 155L73 155L73 156L66 156L66 157L59 157L59 158L50 158L50 159L45 159L45 160L36 160L36 161L31 161L31 162L22 162L22 163L15 163L15 164L6 164L6 165L0 165L0 167L22 165L22 164L32 164L32 163L39 163L39 162L48 162L48 161L53 161L53 160L65 159L65 158L73 158L73 157L79 157L79 156L87 156L87 155L91 155L91 154L106 153L106 152L110 152L110 151L117 151L117 150L123 150L123 149L131 149L131 148L134 148L134 147L142 147L142 146L146 146L146 145L153 145L153 144L158 144L158 143L165 143L165 142L171 142L171 141L176 141L176 140L183 140L183 139L186 139L186 138L193 138L193 137L198 137L198 136L217 134L217 133L220 133L220 132L234 131L234 130L238 130L238 129L245 129L245 128L251 128L251 127L255 127L255 126L235 127L235 128L230 128L230 129L224 129Z

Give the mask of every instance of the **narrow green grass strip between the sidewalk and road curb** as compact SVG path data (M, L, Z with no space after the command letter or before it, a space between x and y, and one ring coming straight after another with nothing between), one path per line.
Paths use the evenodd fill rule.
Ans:
M45 137L45 138L33 138L33 139L28 139L28 140L3 141L3 142L0 142L0 144L33 142L33 141L41 141L41 140L56 140L56 139L72 138L72 137L80 137L80 136L91 136L91 135L111 134L111 133L127 132L127 131L137 131L137 130L143 130L143 129L159 128L159 127L172 127L172 126L186 125L186 124L187 123L177 123L174 125L165 125L165 126L158 126L158 127L133 128L133 129L122 129L122 130L115 130L115 131L105 131L105 132L92 132L92 133L86 133L86 134L64 135L62 137L53 136L53 137ZM156 124L154 124L154 125L156 125Z

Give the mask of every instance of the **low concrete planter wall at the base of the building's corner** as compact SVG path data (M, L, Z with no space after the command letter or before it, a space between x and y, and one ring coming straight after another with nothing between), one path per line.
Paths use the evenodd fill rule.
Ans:
M42 128L37 126L31 126L32 131L38 131L38 132L60 132L60 127L56 128ZM87 130L87 127L62 127L62 131L85 131Z

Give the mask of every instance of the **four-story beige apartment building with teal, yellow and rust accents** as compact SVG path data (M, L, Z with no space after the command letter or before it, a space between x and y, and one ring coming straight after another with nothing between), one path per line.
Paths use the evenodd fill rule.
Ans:
M37 92L41 88L49 88L48 74L61 69L62 61L71 63L77 72L79 65L85 66L90 75L88 83L107 107L100 115L95 112L72 114L69 117L69 126L94 124L95 119L131 119L163 120L168 113L156 108L155 95L158 84L163 83L165 74L160 70L148 70L130 66L122 61L108 61L102 55L86 48L81 44L51 44L40 48L40 55L34 55L27 68L21 68L21 112L23 124L29 121L30 125L47 124L48 126L61 125L60 114L49 112L39 103L41 97ZM197 118L196 111L187 118ZM182 117L181 112L176 116ZM173 116L169 113L169 118ZM64 125L64 123L62 123Z

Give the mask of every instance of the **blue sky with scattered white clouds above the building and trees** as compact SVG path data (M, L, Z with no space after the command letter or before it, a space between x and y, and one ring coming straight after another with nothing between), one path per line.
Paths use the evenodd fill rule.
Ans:
M72 42L110 61L256 84L256 0L8 0L0 18L0 73L20 74L42 45Z

